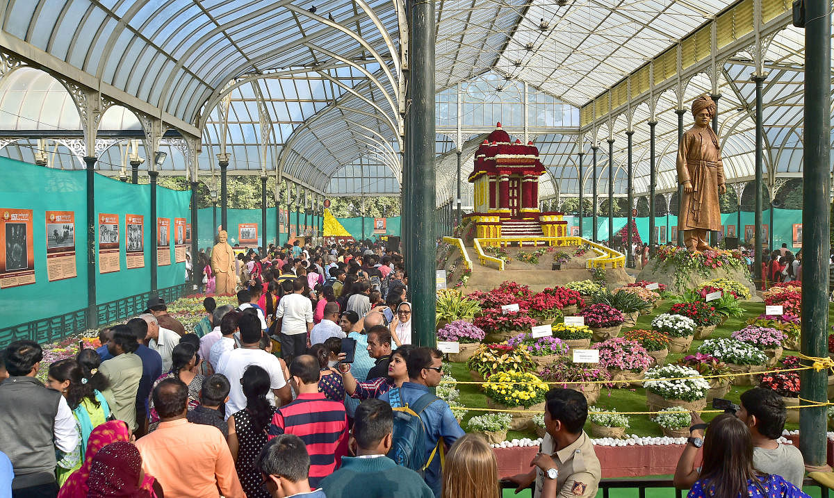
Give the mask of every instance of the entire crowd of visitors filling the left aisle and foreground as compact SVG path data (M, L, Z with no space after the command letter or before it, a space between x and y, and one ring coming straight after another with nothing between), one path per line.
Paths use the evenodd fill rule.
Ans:
M97 350L49 365L46 385L37 342L0 350L0 497L500 496L494 451L434 394L443 354L411 344L399 251L296 244L239 261L238 306L207 297L194 331L153 296ZM595 496L585 396L557 387L545 405L530 472L506 479ZM776 441L785 412L756 388L706 436L693 414L675 485L805 496L801 455Z

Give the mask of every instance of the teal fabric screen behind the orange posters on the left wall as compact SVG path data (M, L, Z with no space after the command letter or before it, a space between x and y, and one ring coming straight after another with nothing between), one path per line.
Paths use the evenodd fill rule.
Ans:
M77 311L87 306L87 188L86 172L62 171L0 157L0 212L19 208L33 210L33 253L35 283L0 289L3 302L2 326L15 326L50 316ZM96 240L96 301L116 301L150 290L150 251L156 249L156 222L150 220L150 186L131 185L102 175L94 177L95 211L118 215L118 271L99 271L98 219ZM189 218L190 192L157 188L158 217ZM47 274L46 212L75 213L75 261L73 278L49 281ZM126 262L125 215L144 217L144 266L128 269ZM185 264L176 263L171 242L171 265L158 268L158 288L182 284ZM0 337L0 344L9 338Z

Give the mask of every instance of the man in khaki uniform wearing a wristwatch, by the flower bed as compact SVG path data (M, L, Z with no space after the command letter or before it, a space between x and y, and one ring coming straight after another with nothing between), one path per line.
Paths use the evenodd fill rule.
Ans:
M585 396L572 389L551 389L545 396L547 434L541 451L526 474L510 477L519 489L535 480L534 497L590 497L596 495L602 469L590 437L582 430L588 418Z

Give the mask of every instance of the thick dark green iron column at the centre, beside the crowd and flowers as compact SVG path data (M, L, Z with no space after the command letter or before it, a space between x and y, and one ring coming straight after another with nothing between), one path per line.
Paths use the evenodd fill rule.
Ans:
M412 330L418 346L434 347L435 336L435 2L409 0L411 90L409 175Z

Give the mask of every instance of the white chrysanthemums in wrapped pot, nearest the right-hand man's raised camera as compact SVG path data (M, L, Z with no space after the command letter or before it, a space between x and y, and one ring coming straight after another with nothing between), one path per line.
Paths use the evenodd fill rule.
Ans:
M706 407L706 391L710 390L710 383L701 374L682 365L650 369L643 386L646 387L646 405L651 411L669 406L701 411Z

